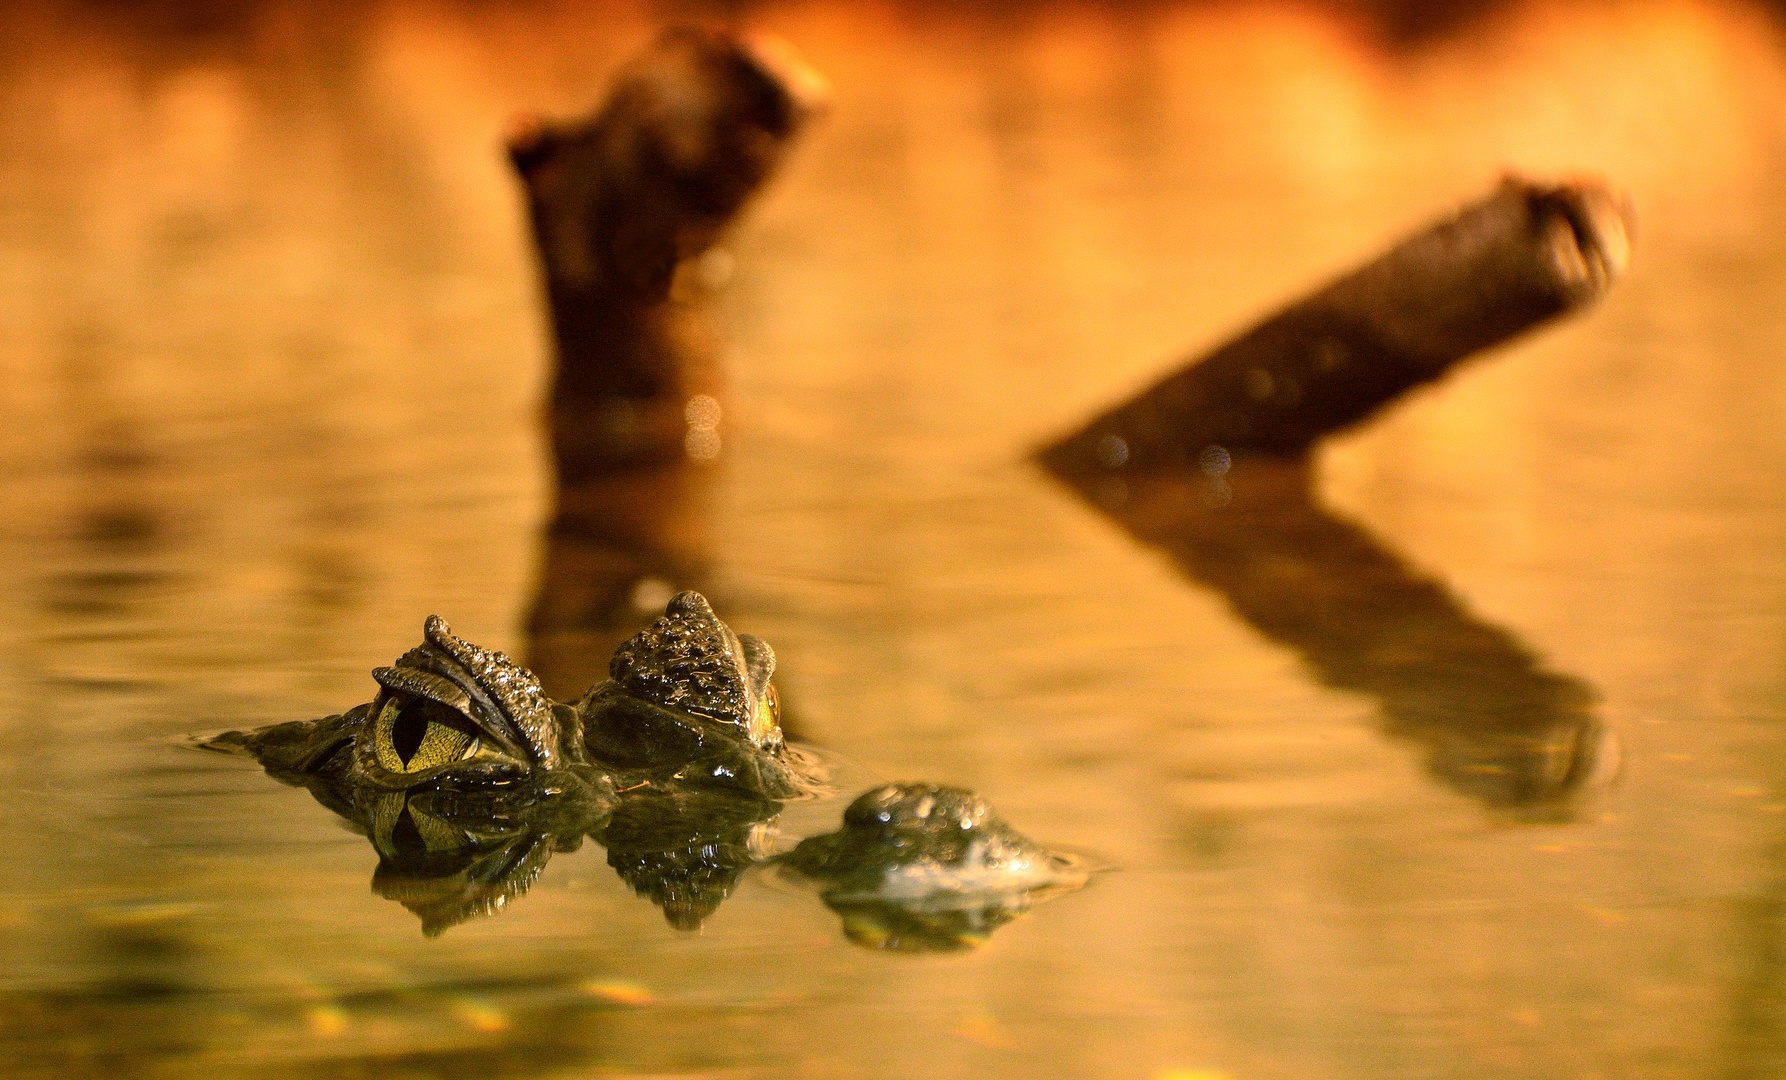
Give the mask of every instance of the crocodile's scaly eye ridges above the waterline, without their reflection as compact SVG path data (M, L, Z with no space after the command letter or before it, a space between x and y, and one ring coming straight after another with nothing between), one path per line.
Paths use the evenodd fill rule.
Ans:
M811 766L782 739L775 652L734 634L700 593L614 652L611 680L577 705L552 702L502 653L429 618L423 643L377 668L377 696L341 716L229 732L280 778L330 787L421 791L534 785L611 800L647 780L793 798Z

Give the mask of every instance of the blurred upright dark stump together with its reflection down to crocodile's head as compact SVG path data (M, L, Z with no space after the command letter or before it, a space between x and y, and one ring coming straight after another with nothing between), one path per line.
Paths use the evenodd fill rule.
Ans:
M605 678L672 594L713 594L725 395L705 300L730 271L716 241L823 102L775 39L673 29L591 118L509 134L557 345L557 505L529 616L529 666L554 693Z

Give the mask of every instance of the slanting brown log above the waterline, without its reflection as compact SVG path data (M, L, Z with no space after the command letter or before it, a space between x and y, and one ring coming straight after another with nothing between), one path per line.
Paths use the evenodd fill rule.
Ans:
M1602 184L1509 177L1041 457L1077 471L1304 452L1459 361L1598 300L1625 270L1631 230L1629 204Z

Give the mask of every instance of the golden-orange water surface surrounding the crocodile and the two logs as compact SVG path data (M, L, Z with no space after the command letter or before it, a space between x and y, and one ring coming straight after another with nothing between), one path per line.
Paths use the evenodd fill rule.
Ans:
M498 132L689 11L4 16L11 1069L1786 1069L1786 37L1743 5L748 9L834 107L727 245L711 559L852 775L1114 868L973 953L761 880L677 934L593 844L423 939L364 839L188 750L366 700L429 612L529 650L548 352ZM1598 694L1604 775L1536 819L1027 461L1507 168L1629 189L1631 277L1318 484Z

